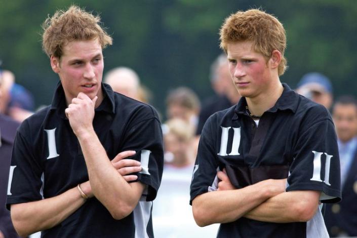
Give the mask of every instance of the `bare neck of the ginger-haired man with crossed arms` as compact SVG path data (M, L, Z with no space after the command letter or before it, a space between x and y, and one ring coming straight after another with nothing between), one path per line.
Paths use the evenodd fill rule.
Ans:
M265 111L273 107L284 91L282 83L279 81L273 87L259 94L254 98L246 98L251 114L261 116Z

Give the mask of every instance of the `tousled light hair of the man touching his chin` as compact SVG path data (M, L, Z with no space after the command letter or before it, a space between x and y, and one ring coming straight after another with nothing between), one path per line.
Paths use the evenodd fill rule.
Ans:
M87 41L98 38L104 49L112 44L112 38L100 26L100 17L94 16L77 6L70 6L67 11L58 10L42 24L42 47L51 57L60 58L63 47L72 41Z

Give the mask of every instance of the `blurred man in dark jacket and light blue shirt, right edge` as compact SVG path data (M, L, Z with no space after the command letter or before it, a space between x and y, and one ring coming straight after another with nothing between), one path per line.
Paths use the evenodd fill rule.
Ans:
M338 138L342 201L327 204L325 223L331 237L357 236L357 101L342 96L335 102L332 117Z

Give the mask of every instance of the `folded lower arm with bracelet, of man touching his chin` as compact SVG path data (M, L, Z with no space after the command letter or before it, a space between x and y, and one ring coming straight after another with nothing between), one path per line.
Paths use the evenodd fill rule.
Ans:
M126 181L137 179L131 173L141 170L140 163L135 160L123 160L123 158L135 154L134 151L124 151L115 156L111 161L112 167L120 173ZM88 197L93 197L90 182L81 184L82 190ZM66 192L51 197L29 203L12 204L11 218L16 231L21 236L27 236L37 231L49 229L56 226L69 215L80 208L86 200L81 197L77 187L71 188Z

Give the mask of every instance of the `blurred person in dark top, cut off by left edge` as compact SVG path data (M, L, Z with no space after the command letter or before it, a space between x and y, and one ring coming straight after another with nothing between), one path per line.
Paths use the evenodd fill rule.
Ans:
M0 104L7 100L4 91L7 85L4 83L3 71L0 69ZM11 221L10 212L6 209L6 194L8 191L8 179L11 163L11 152L19 126L10 117L3 114L0 109L0 238L18 237Z

